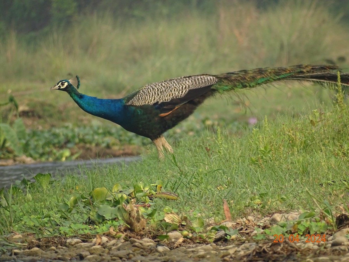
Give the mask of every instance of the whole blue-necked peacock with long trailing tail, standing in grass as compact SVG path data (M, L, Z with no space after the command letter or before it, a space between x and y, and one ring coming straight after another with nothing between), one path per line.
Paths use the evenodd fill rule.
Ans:
M295 65L217 75L191 75L145 85L121 99L98 99L79 93L78 76L59 81L51 90L65 91L89 114L150 138L157 148L159 158L163 158L163 148L173 153L163 133L190 116L208 97L280 80L310 81L325 88L335 88L337 72L338 68L333 65ZM340 75L343 87L349 87L349 73Z

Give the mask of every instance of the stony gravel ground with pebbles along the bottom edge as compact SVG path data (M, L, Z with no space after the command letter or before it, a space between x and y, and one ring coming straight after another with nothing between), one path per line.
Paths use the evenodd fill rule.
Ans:
M280 220L295 219L298 213L274 214L268 224ZM262 221L262 220L259 220ZM250 220L244 220L247 225ZM224 224L224 223L223 223ZM235 227L238 223L225 222L227 227ZM239 224L240 227L240 224ZM240 227L241 228L241 227ZM161 242L150 238L136 239L130 233L121 238L113 236L80 236L80 238L35 239L34 236L10 235L9 242L24 243L22 248L9 248L0 255L1 261L349 261L349 227L337 231L333 236L326 235L326 241L307 243L306 238L291 242L284 238L282 242L274 242L273 237L256 241L252 236L256 233L253 226L243 227L240 236L231 240L225 233L216 234L214 243L197 244L193 240L182 238L181 233L169 233L169 240ZM248 232L248 233L245 233Z

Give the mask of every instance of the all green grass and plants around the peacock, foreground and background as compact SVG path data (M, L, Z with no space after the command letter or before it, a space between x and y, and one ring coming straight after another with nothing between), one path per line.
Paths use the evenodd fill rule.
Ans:
M165 219L175 214L184 222L179 230L188 232L183 235L210 240L213 232L206 226L225 219L222 199L232 219L304 211L299 221L279 224L256 238L333 231L334 215L349 201L349 111L341 97L332 106L333 93L327 90L278 85L232 94L233 99L211 99L168 132L175 153L163 162L153 146L147 147L148 139L89 116L67 95L49 91L58 80L79 74L81 92L118 98L146 83L181 75L347 57L348 27L326 6L314 3L288 1L259 9L243 1L220 1L210 15L188 9L168 19L166 10L157 18L130 19L86 11L73 16L64 30L39 36L6 31L0 43L0 99L7 101L12 94L19 106L18 115L10 105L1 111L1 158L23 152L35 160L74 159L81 144L148 150L142 162L122 168L83 170L83 177L72 173L57 180L42 174L36 183L24 180L2 190L0 234L107 232L122 222L120 216L92 211L102 205L109 211L121 203L129 206L133 199L150 205L141 211L156 234L176 228ZM16 131L18 143L4 126ZM147 202L143 195L132 196L139 185L156 192L153 184L159 180L162 191L177 194L178 200L154 197ZM100 188L115 196L120 193L113 192L116 184L131 190L124 192L124 201L92 196ZM236 234L224 226L212 230Z

